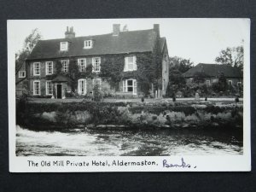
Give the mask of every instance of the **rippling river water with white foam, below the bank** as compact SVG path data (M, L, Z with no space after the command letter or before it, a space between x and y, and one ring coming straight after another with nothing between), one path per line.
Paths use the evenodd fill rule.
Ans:
M20 156L242 154L242 136L231 131L16 131Z

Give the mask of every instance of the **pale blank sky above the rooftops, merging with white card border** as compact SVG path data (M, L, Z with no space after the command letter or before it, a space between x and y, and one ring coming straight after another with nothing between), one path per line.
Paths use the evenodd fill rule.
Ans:
M84 20L8 20L9 44L15 52L25 38L38 28L42 39L64 38L67 26L76 37L112 32L113 24L127 25L129 31L152 29L160 24L170 56L190 59L194 64L215 63L220 50L239 46L247 39L249 22L245 19L84 19Z

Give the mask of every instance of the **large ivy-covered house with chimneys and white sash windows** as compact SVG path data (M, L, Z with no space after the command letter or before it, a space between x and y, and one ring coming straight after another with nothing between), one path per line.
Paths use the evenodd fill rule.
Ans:
M169 55L160 26L75 37L40 40L26 60L31 96L65 98L67 93L88 96L95 84L105 93L124 96L164 96L169 81Z

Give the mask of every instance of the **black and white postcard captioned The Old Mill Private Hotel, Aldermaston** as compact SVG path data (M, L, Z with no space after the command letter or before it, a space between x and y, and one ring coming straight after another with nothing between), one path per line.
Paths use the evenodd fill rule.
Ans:
M251 169L248 19L8 20L8 54L11 172Z

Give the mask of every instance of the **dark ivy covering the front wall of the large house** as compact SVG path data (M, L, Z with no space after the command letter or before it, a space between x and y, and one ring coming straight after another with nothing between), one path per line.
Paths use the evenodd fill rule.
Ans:
M56 61L56 73L51 76L51 79L54 79L58 74L69 77L72 80L71 88L73 91L77 88L78 79L100 77L107 81L116 91L119 91L119 83L122 80L137 79L138 90L142 91L145 96L148 96L151 84L154 84L154 89L159 89L161 85L162 55L159 42L156 41L153 52L136 54L137 71L124 72L125 55L102 56L100 73L92 73L91 63L87 63L85 72L80 72L77 59L69 58L68 72L64 73L61 61Z

